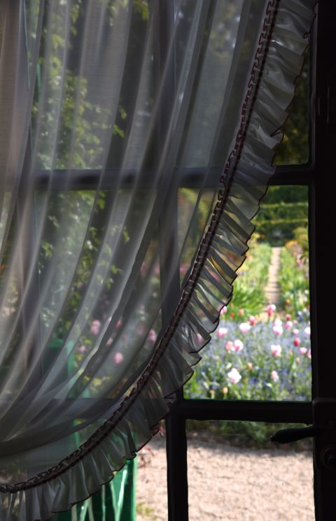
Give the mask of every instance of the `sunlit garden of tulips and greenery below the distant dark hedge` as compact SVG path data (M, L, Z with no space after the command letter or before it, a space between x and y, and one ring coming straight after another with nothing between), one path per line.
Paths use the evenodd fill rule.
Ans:
M265 295L272 248L255 243L221 311L188 398L309 400L311 349L307 257L295 241L281 248L279 304Z

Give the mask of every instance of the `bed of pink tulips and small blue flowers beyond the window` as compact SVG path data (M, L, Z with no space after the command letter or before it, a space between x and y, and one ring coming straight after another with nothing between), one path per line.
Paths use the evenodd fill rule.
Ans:
M310 400L311 351L308 312L281 320L237 322L223 309L221 323L185 386L188 398Z

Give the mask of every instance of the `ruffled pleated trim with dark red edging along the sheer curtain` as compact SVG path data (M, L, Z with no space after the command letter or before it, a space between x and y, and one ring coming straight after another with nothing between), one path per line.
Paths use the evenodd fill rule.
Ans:
M232 297L253 217L274 173L274 146L302 69L313 13L299 0L269 1L251 68L241 124L225 164L218 201L165 334L132 392L86 443L22 483L0 485L1 520L47 520L90 497L158 431L174 392L192 376L200 350ZM235 259L233 261L232 259Z

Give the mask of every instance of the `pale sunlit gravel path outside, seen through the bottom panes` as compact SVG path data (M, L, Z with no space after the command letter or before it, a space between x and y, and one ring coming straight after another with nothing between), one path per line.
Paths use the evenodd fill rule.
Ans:
M137 479L137 521L167 521L165 441L155 438ZM310 452L188 441L190 521L314 521Z

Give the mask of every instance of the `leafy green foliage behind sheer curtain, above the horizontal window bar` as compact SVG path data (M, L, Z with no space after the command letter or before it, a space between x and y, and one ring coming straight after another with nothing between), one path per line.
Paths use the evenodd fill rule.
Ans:
M127 4L122 0L110 1L107 7L111 10L113 24L118 11L127 8ZM146 1L134 0L134 8L146 20ZM102 167L103 142L111 131L111 108L102 105L100 100L89 99L88 78L80 75L76 60L71 59L80 45L78 34L85 9L86 3L77 0L67 13L64 2L52 10L51 26L43 26L31 123L32 136L38 147L38 168ZM65 41L64 26L68 23L68 15L71 20L70 37L69 41ZM109 23L108 18L105 23ZM64 57L67 57L66 64L69 66L64 67ZM121 139L125 138L126 120L127 112L120 106L112 130Z

